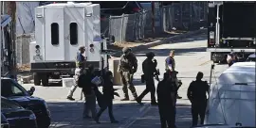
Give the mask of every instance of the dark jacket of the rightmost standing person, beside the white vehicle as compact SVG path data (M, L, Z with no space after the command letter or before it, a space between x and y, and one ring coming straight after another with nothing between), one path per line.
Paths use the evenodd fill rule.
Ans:
M192 81L188 88L187 96L191 102L205 102L207 100L206 93L209 93L209 85L207 81Z

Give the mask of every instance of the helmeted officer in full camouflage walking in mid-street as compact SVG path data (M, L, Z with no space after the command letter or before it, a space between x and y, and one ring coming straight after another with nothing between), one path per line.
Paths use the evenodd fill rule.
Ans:
M125 47L122 49L123 55L120 56L118 72L121 76L122 90L124 99L129 101L128 88L131 90L134 100L137 99L136 88L133 84L133 75L137 72L137 57L132 53L132 49ZM128 88L127 88L128 87Z

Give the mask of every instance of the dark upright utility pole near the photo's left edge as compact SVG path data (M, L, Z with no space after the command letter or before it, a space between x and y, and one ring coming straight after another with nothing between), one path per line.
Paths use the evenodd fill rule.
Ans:
M9 1L7 2L7 8L8 8L8 14L11 17L11 24L10 24L10 37L11 41L10 45L10 63L9 63L9 74L14 76L16 78L16 2L15 1Z

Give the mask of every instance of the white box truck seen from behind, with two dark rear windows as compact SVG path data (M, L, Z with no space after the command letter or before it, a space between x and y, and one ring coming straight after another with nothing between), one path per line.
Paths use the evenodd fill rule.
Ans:
M101 8L92 3L49 4L35 8L35 38L29 45L34 84L73 77L75 58L85 46L86 65L108 70L106 40L101 38Z

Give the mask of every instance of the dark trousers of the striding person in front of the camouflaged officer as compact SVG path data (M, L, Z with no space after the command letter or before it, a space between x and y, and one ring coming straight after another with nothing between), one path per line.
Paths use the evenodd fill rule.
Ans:
M104 102L105 102L106 106L101 107L100 111L97 114L97 118L100 118L101 114L104 112L104 110L106 108L108 108L108 115L109 115L110 120L115 120L114 115L113 115L113 101L112 101L112 99L111 98L106 98Z

